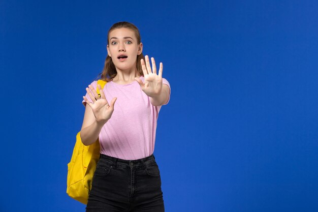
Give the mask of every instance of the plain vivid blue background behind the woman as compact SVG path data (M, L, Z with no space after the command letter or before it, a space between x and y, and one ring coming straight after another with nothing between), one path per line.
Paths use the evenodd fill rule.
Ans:
M166 211L318 211L316 1L0 1L0 211L66 194L110 26L140 29L171 99L154 155Z

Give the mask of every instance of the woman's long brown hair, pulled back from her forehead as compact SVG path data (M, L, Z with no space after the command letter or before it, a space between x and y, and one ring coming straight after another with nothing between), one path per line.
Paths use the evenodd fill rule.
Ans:
M134 31L135 36L137 38L137 44L139 45L141 43L141 37L140 37L140 33L139 33L139 29L137 28L137 26L135 26L132 23L126 22L126 21L122 21L122 22L117 22L115 24L113 24L107 34L107 44L109 45L109 34L113 29L117 29L117 28L129 28L132 31ZM141 62L140 59L144 59L145 57L144 55L141 53L140 55L137 55L137 71L138 74L143 76L143 71L141 68ZM115 68L115 65L113 64L113 60L110 56L108 56L105 59L105 65L103 68L102 73L99 74L99 76L101 76L102 80L105 80L107 82L111 81L115 76L117 75L117 71Z

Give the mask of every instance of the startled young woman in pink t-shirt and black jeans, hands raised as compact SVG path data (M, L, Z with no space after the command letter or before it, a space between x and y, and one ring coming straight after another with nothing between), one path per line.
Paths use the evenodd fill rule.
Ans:
M142 54L138 28L115 23L108 31L101 78L86 88L81 129L84 145L98 138L101 157L86 211L164 211L158 165L153 156L158 113L170 99L170 84L154 58ZM152 67L152 68L151 68ZM109 100L111 100L109 104ZM86 104L88 107L86 107Z

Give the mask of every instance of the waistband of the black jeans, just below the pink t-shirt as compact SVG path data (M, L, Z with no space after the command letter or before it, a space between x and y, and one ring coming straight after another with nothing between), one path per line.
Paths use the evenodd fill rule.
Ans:
M155 163L155 158L154 158L154 155L152 154L146 158L141 158L137 160L123 160L120 158L115 158L115 157L107 156L104 154L100 154L100 161L108 162L112 164L114 167L121 166L124 168L133 168L133 167L146 166L147 164Z

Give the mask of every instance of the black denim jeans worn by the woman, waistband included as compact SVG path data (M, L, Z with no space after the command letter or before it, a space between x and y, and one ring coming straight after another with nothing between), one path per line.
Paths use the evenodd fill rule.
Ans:
M165 211L154 156L122 160L101 154L86 211Z

